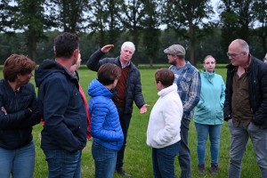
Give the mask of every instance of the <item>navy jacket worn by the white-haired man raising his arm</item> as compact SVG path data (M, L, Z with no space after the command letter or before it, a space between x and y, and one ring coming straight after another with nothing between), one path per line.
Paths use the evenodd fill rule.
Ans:
M94 52L86 63L87 68L98 71L104 63L114 63L121 68L119 56L117 58L105 58L101 60L104 54L101 52L101 49ZM125 86L125 114L132 114L134 102L139 109L145 104L142 96L140 72L131 61Z

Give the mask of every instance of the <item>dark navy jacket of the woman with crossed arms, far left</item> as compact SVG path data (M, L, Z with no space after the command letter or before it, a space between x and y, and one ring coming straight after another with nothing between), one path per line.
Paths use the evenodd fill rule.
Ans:
M4 112L1 108L7 112ZM32 112L29 109L32 110ZM20 149L32 140L32 126L40 122L35 86L28 83L13 91L5 79L0 80L0 147Z

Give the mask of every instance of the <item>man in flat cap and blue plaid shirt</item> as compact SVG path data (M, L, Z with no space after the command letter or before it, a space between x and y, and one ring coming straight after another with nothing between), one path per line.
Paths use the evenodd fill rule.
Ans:
M190 177L190 149L188 147L188 132L193 109L200 100L201 79L198 69L185 61L185 50L180 44L173 44L164 50L167 54L170 68L174 72L174 83L182 100L183 115L181 122L181 147L179 164L182 169L181 177Z

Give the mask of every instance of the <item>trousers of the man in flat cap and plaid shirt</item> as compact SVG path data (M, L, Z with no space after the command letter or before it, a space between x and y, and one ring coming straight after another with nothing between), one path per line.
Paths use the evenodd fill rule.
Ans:
M190 120L182 118L181 122L181 146L179 150L179 165L182 169L181 178L191 177L191 158L190 149L188 147L188 132L190 127Z

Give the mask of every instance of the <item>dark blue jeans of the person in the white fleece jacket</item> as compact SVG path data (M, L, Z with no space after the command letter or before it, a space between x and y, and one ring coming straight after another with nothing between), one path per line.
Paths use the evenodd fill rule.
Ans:
M180 142L162 149L152 149L153 174L155 178L175 178L174 158L179 153Z

